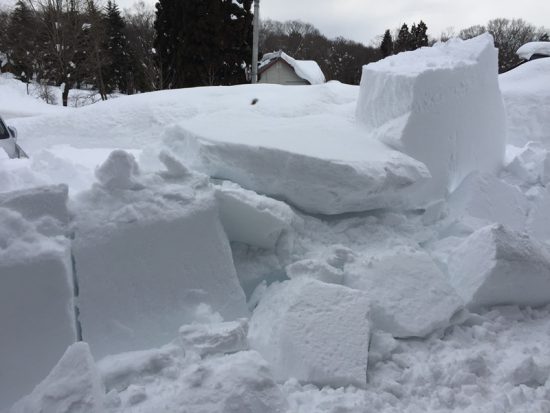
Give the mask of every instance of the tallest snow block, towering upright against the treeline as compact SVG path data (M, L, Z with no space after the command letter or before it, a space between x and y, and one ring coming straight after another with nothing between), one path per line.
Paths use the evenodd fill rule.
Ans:
M505 115L489 34L400 53L363 67L356 117L369 132L423 162L434 198L504 160Z

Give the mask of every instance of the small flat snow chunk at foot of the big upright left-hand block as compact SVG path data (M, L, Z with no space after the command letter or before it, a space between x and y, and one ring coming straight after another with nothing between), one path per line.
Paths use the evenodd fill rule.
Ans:
M210 324L188 324L179 330L179 341L185 350L207 354L235 353L246 350L248 321L240 319Z

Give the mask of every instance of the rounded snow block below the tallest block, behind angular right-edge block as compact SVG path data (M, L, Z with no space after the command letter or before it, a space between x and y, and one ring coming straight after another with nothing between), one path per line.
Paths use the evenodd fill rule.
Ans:
M517 231L525 229L529 203L523 193L497 177L473 173L449 196L449 215L499 223Z

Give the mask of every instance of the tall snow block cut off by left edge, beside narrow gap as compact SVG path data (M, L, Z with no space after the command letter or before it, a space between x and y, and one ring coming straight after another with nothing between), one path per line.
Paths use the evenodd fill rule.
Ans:
M0 208L0 410L28 394L75 340L69 242Z

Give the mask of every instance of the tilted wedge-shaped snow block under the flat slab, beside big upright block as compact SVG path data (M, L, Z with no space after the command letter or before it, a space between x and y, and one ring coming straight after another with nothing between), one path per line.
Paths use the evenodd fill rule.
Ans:
M216 187L220 219L230 241L275 249L298 217L285 203L231 182Z

